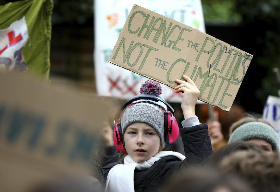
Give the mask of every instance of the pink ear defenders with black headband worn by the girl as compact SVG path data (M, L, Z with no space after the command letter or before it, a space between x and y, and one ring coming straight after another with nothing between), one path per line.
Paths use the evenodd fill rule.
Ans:
M130 105L134 101L138 101L140 99L150 100L150 101L155 101L155 102L161 101L162 103L164 103L165 105L167 105L169 107L169 109L171 111L164 112L164 140L166 143L173 143L178 138L179 126L178 126L178 123L174 116L174 109L171 107L171 105L169 105L169 103L164 101L162 98L154 96L154 95L150 95L150 94L138 95L138 96L135 96L135 97L125 101L125 103L123 103L122 106L120 106L120 108L118 109L118 111L114 117L115 128L113 131L113 138L114 138L115 147L120 153L126 154L126 151L122 146L123 135L122 135L121 124L120 124L120 122L116 124L115 120L120 118L122 111L128 105Z

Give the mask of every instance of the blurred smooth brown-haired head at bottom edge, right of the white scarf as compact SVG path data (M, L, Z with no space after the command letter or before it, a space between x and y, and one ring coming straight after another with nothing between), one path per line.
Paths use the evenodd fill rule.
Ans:
M246 183L234 175L218 172L212 168L197 167L173 175L161 190L163 192L252 192Z

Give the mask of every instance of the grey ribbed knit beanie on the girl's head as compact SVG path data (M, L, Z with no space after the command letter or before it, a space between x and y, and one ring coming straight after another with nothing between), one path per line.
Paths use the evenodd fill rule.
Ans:
M164 110L162 107L155 103L146 102L146 100L145 102L133 103L127 107L120 119L122 135L124 135L127 126L135 122L143 122L153 127L160 136L162 148L165 147Z

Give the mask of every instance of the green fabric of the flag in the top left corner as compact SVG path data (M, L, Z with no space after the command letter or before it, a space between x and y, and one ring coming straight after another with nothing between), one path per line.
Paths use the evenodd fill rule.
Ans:
M22 50L28 72L48 80L50 74L51 15L53 0L25 0L0 6L0 29L25 16L29 40Z

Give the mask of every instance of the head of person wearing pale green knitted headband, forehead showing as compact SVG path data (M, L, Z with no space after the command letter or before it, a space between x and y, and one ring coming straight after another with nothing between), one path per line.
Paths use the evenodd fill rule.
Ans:
M258 145L266 151L279 152L278 135L274 128L267 123L263 123L260 121L251 121L241 124L233 130L234 131L232 132L228 140L228 144L242 140Z

